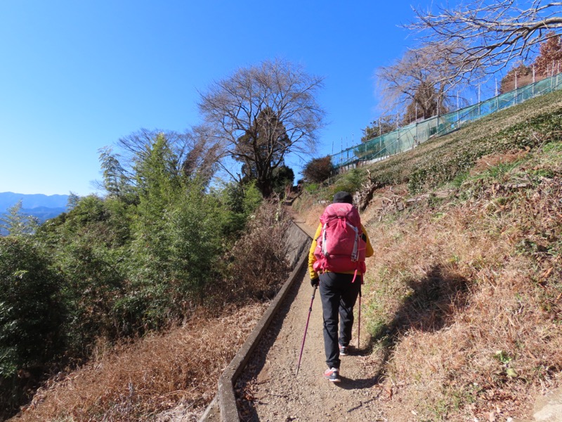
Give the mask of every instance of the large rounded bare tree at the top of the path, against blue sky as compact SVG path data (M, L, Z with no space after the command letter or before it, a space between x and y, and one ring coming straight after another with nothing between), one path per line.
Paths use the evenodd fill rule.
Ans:
M322 78L301 66L266 60L211 84L199 108L224 154L242 162L268 196L273 170L287 154L315 151L325 115L315 99L321 87Z

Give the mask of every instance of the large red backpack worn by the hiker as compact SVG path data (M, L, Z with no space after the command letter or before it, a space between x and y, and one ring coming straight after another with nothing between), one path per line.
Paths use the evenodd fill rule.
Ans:
M314 271L365 274L365 248L357 208L348 203L333 203L320 216L322 231L316 239ZM355 276L353 281L355 281Z

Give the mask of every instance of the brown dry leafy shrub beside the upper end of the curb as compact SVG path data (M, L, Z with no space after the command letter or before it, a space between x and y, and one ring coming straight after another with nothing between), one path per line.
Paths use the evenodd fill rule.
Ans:
M264 201L248 224L246 234L230 250L221 294L230 301L269 300L287 280L285 256L289 215L275 201Z

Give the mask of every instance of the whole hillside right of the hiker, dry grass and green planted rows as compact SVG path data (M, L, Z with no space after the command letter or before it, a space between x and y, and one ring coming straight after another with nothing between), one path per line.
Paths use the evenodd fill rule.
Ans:
M315 194L360 180L372 195L363 299L388 420L530 418L535 397L559 385L561 98L505 110ZM358 176L367 170L368 186Z

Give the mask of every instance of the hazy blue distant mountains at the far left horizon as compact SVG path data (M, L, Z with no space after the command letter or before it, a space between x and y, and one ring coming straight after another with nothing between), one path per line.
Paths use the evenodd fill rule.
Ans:
M33 215L42 223L66 211L68 195L43 195L42 193L26 195L25 193L0 192L0 218L8 212L8 208L13 207L20 200L22 201L20 212L25 215Z

